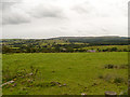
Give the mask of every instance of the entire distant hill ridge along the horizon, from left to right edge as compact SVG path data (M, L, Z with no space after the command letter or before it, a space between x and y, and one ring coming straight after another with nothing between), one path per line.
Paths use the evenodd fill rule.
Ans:
M43 40L61 40L61 41L68 41L68 42L82 42L82 43L127 43L130 38L128 37L118 37L118 36L105 36L105 37L57 37L57 38L50 38L50 39L3 39L2 41L43 41Z

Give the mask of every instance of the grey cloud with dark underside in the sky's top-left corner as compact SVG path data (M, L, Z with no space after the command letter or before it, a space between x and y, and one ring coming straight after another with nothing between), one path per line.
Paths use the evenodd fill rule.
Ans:
M14 8L14 5L21 4L22 0L15 2L16 0L9 0L12 2L2 3L2 25L17 25L29 23L30 19L23 10Z

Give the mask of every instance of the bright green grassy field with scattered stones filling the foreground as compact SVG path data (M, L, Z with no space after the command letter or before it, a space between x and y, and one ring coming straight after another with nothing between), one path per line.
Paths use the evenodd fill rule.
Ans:
M2 63L3 83L15 80L3 86L3 95L104 95L128 88L127 52L3 54Z

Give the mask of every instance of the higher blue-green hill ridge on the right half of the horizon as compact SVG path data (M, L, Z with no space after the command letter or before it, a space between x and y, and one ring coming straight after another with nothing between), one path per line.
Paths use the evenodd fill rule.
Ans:
M67 40L69 42L83 42L83 43L104 43L104 42L128 42L127 37L118 37L118 36L105 36L105 37L58 37L51 38L52 40Z

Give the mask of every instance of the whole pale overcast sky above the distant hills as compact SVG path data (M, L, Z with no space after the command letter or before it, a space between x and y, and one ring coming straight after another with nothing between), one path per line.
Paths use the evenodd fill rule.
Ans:
M129 0L0 0L2 38L128 36Z

